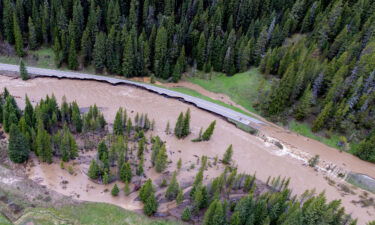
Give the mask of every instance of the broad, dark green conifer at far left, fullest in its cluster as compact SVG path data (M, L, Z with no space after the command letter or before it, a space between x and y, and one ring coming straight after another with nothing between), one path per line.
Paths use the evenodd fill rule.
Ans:
M27 140L16 124L10 127L8 155L14 163L23 163L29 158Z

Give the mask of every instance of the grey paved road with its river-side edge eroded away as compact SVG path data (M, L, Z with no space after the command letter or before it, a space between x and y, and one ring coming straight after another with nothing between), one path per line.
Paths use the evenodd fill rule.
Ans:
M247 126L251 126L253 128L258 128L259 125L264 124L260 120L257 120L253 117L236 112L232 109L223 107L221 105L218 105L218 104L215 104L215 103L212 103L212 102L209 102L209 101L197 98L197 97L193 97L190 95L182 94L180 92L156 87L154 85L150 85L146 83L134 82L134 81L124 80L124 79L117 79L117 78L108 77L108 76L100 76L100 75L77 73L77 72L62 71L62 70L51 70L51 69L43 69L43 68L36 68L36 67L27 67L27 70L30 74L36 75L38 77L58 77L58 78L68 78L68 79L80 79L80 80L96 80L96 81L108 82L108 83L115 84L115 85L125 84L125 85L136 86L139 88L149 90L151 92L158 93L163 96L176 98L185 102L189 102L191 104L194 104L198 108L223 116L227 119L232 119L234 121L237 121ZM19 72L19 66L0 63L0 71Z

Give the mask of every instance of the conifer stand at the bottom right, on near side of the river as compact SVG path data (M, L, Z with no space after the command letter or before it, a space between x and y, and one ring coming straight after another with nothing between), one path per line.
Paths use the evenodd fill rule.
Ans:
M202 158L204 160L204 158ZM190 191L190 204L181 219L197 221L205 211L203 225L257 225L257 224L330 224L355 225L341 206L340 200L328 202L325 194L306 191L293 196L289 179L273 178L267 181L268 191L259 193L255 175L238 174L236 168L226 168L218 177L202 183L206 162L202 161ZM230 193L243 193L239 199L230 199Z

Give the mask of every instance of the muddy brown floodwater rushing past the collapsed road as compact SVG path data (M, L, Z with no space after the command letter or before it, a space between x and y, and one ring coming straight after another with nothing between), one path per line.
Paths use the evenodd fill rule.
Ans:
M317 192L325 191L328 200L341 199L346 212L357 217L359 224L365 224L375 218L374 207L363 208L352 203L352 201L360 199L359 195L363 190L346 184L355 193L346 194L337 187L337 184L345 183L337 177L337 173L354 171L375 177L373 164L361 161L347 153L340 153L324 144L282 128L267 125L261 128L263 137L253 136L237 129L224 119L194 106L129 86L112 86L95 81L53 78L22 81L0 76L0 88L4 87L7 87L10 93L16 96L21 107L24 105L25 94L34 104L47 94L54 94L58 101L66 96L68 101L76 100L80 107L96 104L103 108L103 114L108 122L114 120L119 107L133 112L130 114L133 117L136 112L148 113L149 117L156 121L153 135L159 135L167 141L167 151L173 161L169 166L171 171L176 168L175 164L179 158L182 158L184 167L189 167L196 162L196 156L207 155L221 158L226 148L233 144L233 159L238 166L238 172L256 173L257 178L263 181L266 181L269 176L290 177L290 187L294 194L302 194L306 189L316 189ZM166 135L164 130L167 122L174 125L179 113L187 108L190 108L192 116L190 136L184 140L178 140L172 135ZM191 139L198 136L200 128L207 127L213 120L216 120L217 123L212 139L208 142L191 142ZM272 144L275 140L280 141L284 148L280 149ZM315 154L319 154L321 157L318 170L306 165L306 160ZM47 165L34 160L33 164L35 166L29 168L29 177L57 192L81 200L113 203L126 209L134 210L141 207L139 202L134 201L135 193L128 197L122 195L118 198L105 193L104 190L110 189L113 184L105 187L89 181L81 172L84 168L80 165L74 165L76 175L70 175L66 170L61 170L58 163ZM195 172L194 170L186 171L179 176L179 180L188 180ZM147 171L147 175L153 179L160 176L153 170ZM209 173L209 175L215 175L215 172ZM332 182L329 184L326 177L336 184L333 185ZM63 180L68 181L66 187L61 185ZM123 185L120 187L122 188ZM369 197L375 198L375 195L369 193Z

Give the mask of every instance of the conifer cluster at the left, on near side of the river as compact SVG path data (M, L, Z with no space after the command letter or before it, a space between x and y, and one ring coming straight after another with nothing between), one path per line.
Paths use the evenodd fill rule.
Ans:
M5 89L0 95L0 124L9 133L8 155L13 162L25 162L33 151L41 161L51 163L53 156L65 162L75 159L78 146L73 133L82 132L82 127L92 128L92 124L99 124L95 131L102 130L105 120L96 106L81 115L76 102L67 103L63 98L58 106L53 95L47 95L35 107L26 96L21 110Z

